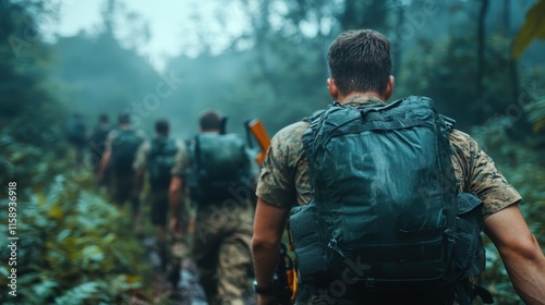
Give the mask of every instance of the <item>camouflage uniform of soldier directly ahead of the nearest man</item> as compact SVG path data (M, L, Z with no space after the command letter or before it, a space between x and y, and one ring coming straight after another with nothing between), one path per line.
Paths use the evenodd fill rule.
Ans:
M172 174L183 178L189 155L179 154ZM198 203L193 236L193 259L208 303L244 304L250 290L251 240L254 210L251 190L240 187L233 198Z

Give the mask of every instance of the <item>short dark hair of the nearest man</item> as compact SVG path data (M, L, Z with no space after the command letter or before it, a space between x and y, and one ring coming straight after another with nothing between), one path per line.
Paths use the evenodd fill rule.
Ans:
M373 29L342 32L327 53L329 75L343 95L385 94L391 74L390 41Z

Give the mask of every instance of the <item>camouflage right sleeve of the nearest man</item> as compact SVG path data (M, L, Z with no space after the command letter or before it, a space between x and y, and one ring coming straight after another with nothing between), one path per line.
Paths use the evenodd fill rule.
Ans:
M520 194L496 168L494 160L468 134L457 132L459 149L463 152L465 192L474 193L484 203L488 217L521 200Z

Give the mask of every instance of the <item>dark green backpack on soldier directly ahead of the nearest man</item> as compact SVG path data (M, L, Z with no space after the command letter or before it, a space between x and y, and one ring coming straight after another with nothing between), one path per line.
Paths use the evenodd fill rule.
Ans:
M199 205L232 198L238 187L251 184L246 145L237 134L198 134L189 150L187 184Z

